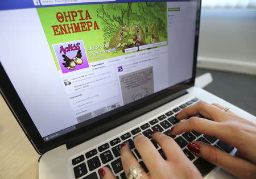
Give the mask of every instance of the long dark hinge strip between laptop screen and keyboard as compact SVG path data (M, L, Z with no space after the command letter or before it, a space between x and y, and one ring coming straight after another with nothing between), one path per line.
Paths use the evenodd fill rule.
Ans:
M112 130L113 128L121 126L122 124L129 122L130 120L135 119L138 116L141 116L145 113L148 113L149 111L154 110L157 107L162 106L165 103L168 103L170 101L173 101L174 99L179 98L182 95L185 95L187 93L188 93L187 90L184 89L184 90L178 91L177 93L174 93L168 97L165 96L163 99L160 98L160 100L158 100L154 103L150 103L149 105L144 106L141 109L133 111L129 114L126 114L123 116L118 116L118 118L115 118L115 119L112 118L111 120L109 120L108 123L104 123L100 126L97 126L97 128L92 128L90 130L86 130L86 132L84 132L83 134L80 134L79 136L75 136L71 140L68 140L66 142L66 147L67 147L67 149L71 149L81 143L84 143L87 140L95 138L96 136L101 135L106 131L109 131L109 130Z

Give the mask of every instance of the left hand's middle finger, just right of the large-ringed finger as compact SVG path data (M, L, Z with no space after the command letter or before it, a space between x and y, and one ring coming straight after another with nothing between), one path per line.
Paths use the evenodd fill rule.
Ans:
M164 164L166 164L166 161L156 150L152 142L145 136L137 135L134 138L134 144L150 171L152 178L157 178L157 175L165 168Z

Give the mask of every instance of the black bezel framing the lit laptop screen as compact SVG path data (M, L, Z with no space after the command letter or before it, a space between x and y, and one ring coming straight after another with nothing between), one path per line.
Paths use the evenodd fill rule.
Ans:
M55 147L65 144L67 141L71 140L75 136L84 134L86 131L88 132L88 128L93 129L98 126L104 126L109 123L109 120L112 120L112 122L113 120L117 122L119 118L121 118L121 116L128 113L134 113L141 106L150 105L155 101L158 101L159 98L168 97L176 93L177 91L185 90L193 86L195 84L197 50L198 50L198 44L199 44L200 11L201 11L201 1L197 0L195 45L194 45L194 55L193 55L193 70L192 70L191 78L183 82L180 82L179 84L171 86L170 88L148 95L148 97L139 99L138 101L119 107L116 110L110 111L111 113L109 112L109 113L100 115L98 116L98 118L102 118L104 116L104 119L101 119L99 122L89 124L89 126L79 128L78 130L69 132L68 134L61 135L49 141L44 141L42 136L39 134L39 131L37 130L34 122L32 122L32 119L28 114L26 107L24 107L21 99L19 98L19 95L16 93L16 90L13 84L11 83L9 77L7 76L7 73L5 72L5 69L3 68L0 62L0 76L2 78L1 86L0 86L1 94L5 99L7 105L9 106L11 112L15 116L20 127L22 128L22 130L24 131L24 133L26 134L27 138L30 140L31 144L36 149L36 151L42 155L43 153ZM114 122L114 124L112 123L111 126L108 126L108 128L106 128L106 130L117 127L120 124L125 123L129 120L131 119L125 119L125 120L122 120L121 122L119 121L118 123ZM103 132L105 131L95 132L95 136L102 134Z

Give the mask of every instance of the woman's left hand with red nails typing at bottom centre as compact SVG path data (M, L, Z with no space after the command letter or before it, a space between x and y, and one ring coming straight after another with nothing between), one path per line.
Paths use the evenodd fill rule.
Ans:
M131 153L129 145L123 143L121 145L121 159L125 173L129 168L136 166L142 169L142 179L202 178L199 170L184 155L174 139L156 131L152 132L152 138L162 147L167 160L162 158L148 138L138 135L134 138L134 144L150 173L147 174L142 169L133 153ZM103 179L115 179L114 174L107 167L101 168L99 172Z

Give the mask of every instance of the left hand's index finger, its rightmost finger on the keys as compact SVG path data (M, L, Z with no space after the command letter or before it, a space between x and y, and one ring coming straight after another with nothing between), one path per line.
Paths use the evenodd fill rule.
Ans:
M188 160L174 139L164 135L162 132L152 133L152 138L162 147L167 161L177 161L182 158Z

